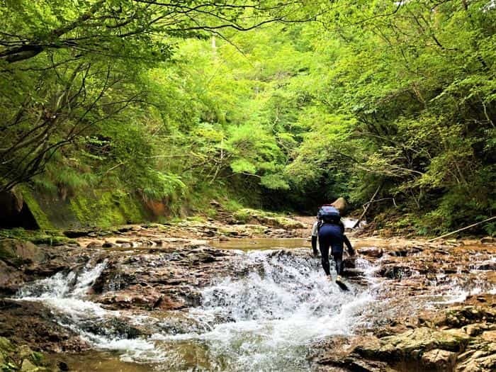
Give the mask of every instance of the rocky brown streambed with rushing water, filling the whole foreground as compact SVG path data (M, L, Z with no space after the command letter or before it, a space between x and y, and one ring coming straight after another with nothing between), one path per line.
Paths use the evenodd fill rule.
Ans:
M73 232L77 242L59 247L4 239L0 366L496 370L490 239L351 239L359 254L346 259L343 292L310 254L303 222L134 225Z

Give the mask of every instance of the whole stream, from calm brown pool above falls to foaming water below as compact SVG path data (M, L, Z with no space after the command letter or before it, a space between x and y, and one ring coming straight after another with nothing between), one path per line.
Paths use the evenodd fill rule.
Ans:
M357 259L361 280L349 280L350 291L342 291L322 275L320 259L298 248L303 243L219 244L235 249L237 271L244 275L213 278L200 288L198 305L183 310L108 310L92 301L91 286L107 260L90 259L77 270L28 283L16 298L43 303L58 324L94 348L68 355L71 371L308 371L315 344L354 334L402 306L391 309L378 300L383 288L378 266ZM480 286L485 284L449 281L410 305L451 303Z

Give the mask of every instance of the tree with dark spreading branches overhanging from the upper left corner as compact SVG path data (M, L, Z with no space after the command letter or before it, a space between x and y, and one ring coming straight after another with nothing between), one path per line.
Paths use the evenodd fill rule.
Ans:
M57 150L96 123L136 110L145 101L141 74L170 60L179 39L291 22L300 8L272 1L5 1L0 191L43 172Z

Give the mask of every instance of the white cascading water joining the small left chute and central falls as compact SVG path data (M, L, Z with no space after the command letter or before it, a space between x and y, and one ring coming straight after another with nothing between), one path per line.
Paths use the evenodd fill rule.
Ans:
M353 284L349 292L339 290L322 275L320 260L307 254L240 253L239 269L248 274L203 288L201 305L182 314L191 327L167 332L160 319L109 311L89 300L86 293L105 266L88 264L30 283L18 298L45 303L57 310L60 324L96 348L119 351L121 359L150 363L157 371L305 371L312 342L353 332L372 300L366 288ZM104 329L109 319L155 333L128 339Z

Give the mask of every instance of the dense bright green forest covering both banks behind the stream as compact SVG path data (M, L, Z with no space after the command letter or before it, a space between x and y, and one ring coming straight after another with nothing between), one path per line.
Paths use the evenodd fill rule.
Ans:
M3 0L0 14L2 192L106 191L169 216L375 194L378 221L426 235L495 213L495 1Z

